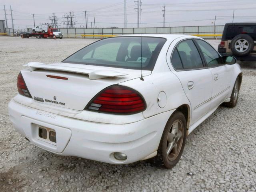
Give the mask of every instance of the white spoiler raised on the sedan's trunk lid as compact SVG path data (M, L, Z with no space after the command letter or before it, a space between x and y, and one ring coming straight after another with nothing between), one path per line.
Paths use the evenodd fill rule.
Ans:
M67 66L58 66L58 65L47 65L39 62L30 62L25 64L30 71L35 71L38 69L46 69L46 70L57 70L57 71L66 71L72 73L81 73L89 76L89 79L103 79L108 77L118 77L128 75L125 73L117 72L114 70L92 70L92 69L84 69L77 67L67 67Z

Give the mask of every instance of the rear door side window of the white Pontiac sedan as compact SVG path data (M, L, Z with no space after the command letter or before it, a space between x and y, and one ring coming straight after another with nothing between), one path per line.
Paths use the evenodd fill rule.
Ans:
M194 44L189 40L184 40L176 46L184 69L202 68L203 62Z

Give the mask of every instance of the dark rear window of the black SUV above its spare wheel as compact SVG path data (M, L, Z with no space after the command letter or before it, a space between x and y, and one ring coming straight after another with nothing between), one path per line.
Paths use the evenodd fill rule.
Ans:
M256 40L256 26L254 25L230 25L226 32L226 40L232 40L239 34L248 34Z

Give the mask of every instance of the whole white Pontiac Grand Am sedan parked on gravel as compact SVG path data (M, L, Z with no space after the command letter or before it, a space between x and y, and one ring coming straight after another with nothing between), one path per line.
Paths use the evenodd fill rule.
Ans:
M8 105L15 130L50 152L111 164L154 157L172 168L194 128L220 104L236 106L242 82L233 57L174 34L105 38L26 66Z

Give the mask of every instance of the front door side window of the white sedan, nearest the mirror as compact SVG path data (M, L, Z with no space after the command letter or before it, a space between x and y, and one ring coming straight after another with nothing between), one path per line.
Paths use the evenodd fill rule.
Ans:
M196 39L196 42L198 43L200 49L202 50L208 67L222 65L221 57L219 56L218 52L216 52L216 50L212 48L212 46L210 46L203 40Z

